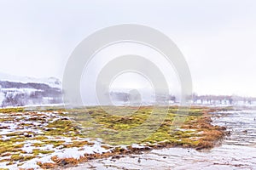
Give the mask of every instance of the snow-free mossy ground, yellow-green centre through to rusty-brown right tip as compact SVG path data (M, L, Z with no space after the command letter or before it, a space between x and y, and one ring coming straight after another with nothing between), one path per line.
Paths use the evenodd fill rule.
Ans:
M188 112L180 111L179 115L177 115L177 107L157 107L157 110L155 110L155 107L144 106L139 109L132 107L128 109L133 114L119 116L119 113L115 113L116 110L113 107L104 106L90 107L86 108L86 110L73 110L73 116L70 116L76 119L79 124L82 124L85 129L83 133L85 136L90 138L99 137L115 145L133 143L158 144L165 142L166 144L199 149L198 146L201 146L201 144L210 142L212 143L211 146L207 147L212 148L213 141L220 139L224 135L221 127L211 125L211 118L207 112L213 110L206 108L194 107ZM119 107L117 110L127 112L125 107ZM163 117L163 122L156 124L156 128L152 129L153 131L150 131L150 129L147 131L148 128L154 127L155 122L153 120L147 125L143 125L143 123L148 121L148 117L152 116L153 111L157 113L157 116ZM183 122L178 128L172 128L173 122L177 117ZM134 129L136 131L133 133L132 130ZM207 133L211 133L211 138L214 139L206 138Z

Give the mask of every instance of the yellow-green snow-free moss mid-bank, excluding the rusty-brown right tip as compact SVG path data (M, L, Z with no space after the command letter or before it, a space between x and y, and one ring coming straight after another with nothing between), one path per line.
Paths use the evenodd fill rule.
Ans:
M154 122L154 119L148 122L148 118L152 116L153 111L157 113L156 116L164 118L164 122L160 123L159 127L157 127L157 122ZM171 132L173 120L177 119L178 116L185 124L196 122L203 115L204 109L194 108L189 112L181 109L178 111L179 115L177 115L177 111L177 107L158 107L155 110L154 107L148 106L140 107L137 110L137 108L132 107L103 106L76 109L69 112L72 113L70 116L73 116L76 122L84 127L84 137L102 138L106 142L110 141L110 144L158 143L163 140L171 141L173 144L188 144L189 138L196 136L195 133L193 131ZM133 114L129 114L129 112ZM132 133L136 127L141 128L141 130ZM149 131L152 129L153 133L143 141L137 141L149 132L148 129Z

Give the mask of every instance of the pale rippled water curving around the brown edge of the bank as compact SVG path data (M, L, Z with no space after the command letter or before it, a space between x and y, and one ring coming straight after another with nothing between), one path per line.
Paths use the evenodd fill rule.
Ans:
M119 159L89 161L70 169L256 169L256 111L214 114L213 124L227 127L230 136L212 150L151 150Z

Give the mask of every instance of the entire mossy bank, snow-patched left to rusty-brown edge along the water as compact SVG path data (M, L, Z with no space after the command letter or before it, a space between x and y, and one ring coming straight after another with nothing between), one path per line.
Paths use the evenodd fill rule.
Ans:
M151 116L153 108L104 109L90 107L87 110L69 111L60 108L0 110L0 167L72 167L92 159L119 157L144 150L171 147L212 149L225 135L224 127L211 124L212 115L209 114L222 109L192 107L186 115L179 115L184 118L182 126L172 129L172 122L177 117L177 107L172 106L158 108L158 116L166 114L164 122L154 133L148 134L147 138L121 139L118 132L140 126ZM125 113L128 110L135 112L132 115L118 116L118 113L108 114L106 110L111 113ZM90 115L92 119L84 119L84 114ZM78 116L79 121L77 119L74 122ZM81 124L83 126L79 126ZM102 133L106 135L99 135Z

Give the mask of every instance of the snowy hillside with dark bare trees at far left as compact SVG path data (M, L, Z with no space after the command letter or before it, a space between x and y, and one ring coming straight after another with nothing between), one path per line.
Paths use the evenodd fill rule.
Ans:
M0 107L61 103L61 81L55 77L40 79L0 73Z

